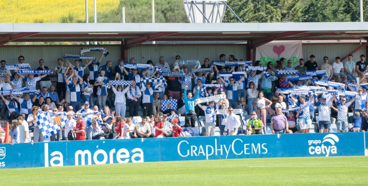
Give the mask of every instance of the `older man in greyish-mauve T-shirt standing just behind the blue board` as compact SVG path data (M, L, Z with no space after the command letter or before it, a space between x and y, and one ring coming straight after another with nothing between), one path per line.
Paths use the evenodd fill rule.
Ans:
M272 134L289 133L288 119L282 113L281 107L276 107L276 115L271 117L271 131Z

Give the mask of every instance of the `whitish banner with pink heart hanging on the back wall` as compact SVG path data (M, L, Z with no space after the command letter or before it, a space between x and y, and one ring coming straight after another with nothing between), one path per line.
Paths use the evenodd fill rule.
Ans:
M271 42L256 49L256 60L260 60L264 67L270 61L275 64L282 57L286 59L284 67L289 59L292 67L298 66L299 59L303 58L302 41Z

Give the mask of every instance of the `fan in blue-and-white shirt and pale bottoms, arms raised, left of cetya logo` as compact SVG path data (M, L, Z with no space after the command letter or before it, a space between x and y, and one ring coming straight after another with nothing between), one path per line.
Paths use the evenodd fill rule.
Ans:
M317 101L317 94L315 93L314 98ZM313 103L313 98L311 97L309 101L306 101L305 95L299 96L299 101L297 101L294 97L291 96L291 100L296 103L296 105L300 108L299 111L299 127L302 133L309 133L309 129L312 126L312 119L310 115L309 106ZM327 128L328 129L328 128Z

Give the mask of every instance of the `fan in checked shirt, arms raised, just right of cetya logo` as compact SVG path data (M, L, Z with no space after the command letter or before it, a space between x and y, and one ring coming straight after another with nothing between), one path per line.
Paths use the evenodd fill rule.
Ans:
M346 98L342 97L340 101L336 102L337 108L331 105L331 108L338 112L338 118L336 121L337 132L346 132L347 126L347 107L355 101L355 97L350 101L346 102Z

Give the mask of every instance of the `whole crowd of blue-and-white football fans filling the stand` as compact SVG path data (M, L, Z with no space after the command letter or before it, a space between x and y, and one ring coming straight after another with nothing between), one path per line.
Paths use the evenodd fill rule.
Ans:
M355 116L351 130L367 131L368 128L368 84L365 84L367 78L364 76L368 63L364 55L356 63L352 55L344 63L340 61L340 57L336 57L332 64L328 62L328 57L323 57L324 63L320 67L315 62L315 56L311 55L310 60L305 63L304 59L299 59L299 65L295 68L292 67L291 60L281 58L275 64L268 62L266 72L246 70L247 65L243 63L236 66L213 65L205 58L201 68L210 68L213 71L191 73L191 70L197 69L197 65L192 69L186 65L170 67L163 56L160 56L156 64L148 60L147 64L162 71L184 74L184 77L163 76L166 83L143 83L142 78L161 78L157 69L124 68L123 59L118 61L114 69L111 61L100 67L103 58L104 54L97 62L85 59L84 65L79 60L72 64L68 60L58 59L58 66L54 69L57 76L56 87L53 86L49 73L19 74L18 70L11 72L5 68L6 62L1 60L1 90L22 87L36 90L37 83L41 87L38 93L16 95L1 92L1 116L3 120L6 118L11 121L10 133L13 141L29 141L28 131L33 131L35 142L44 140L35 122L40 110L47 113L66 112L65 127L51 136L51 140L180 137L185 134L179 125L179 116L185 117L184 127L195 127L196 117L205 116L206 136L213 136L215 127L220 128L221 135L237 135L242 122L247 126L246 134L264 134L267 115L273 115L270 120L272 134L309 133L313 121L317 122L318 132L329 132L331 117L337 118L338 132L347 132L350 130L347 128L347 113L354 113ZM18 60L19 64L23 64L25 57L19 56ZM176 61L179 60L181 57L178 55ZM243 61L237 60L234 55L229 55L226 59L224 54L215 60L233 64ZM130 63L136 63L135 59L131 58ZM262 67L262 63L256 61L253 66ZM84 73L85 69L88 73ZM37 70L49 70L44 65L44 60L39 60ZM326 70L326 75L290 81L288 78L296 74L278 74L278 70L297 70L298 75L304 75L308 71ZM245 73L222 76L221 72ZM328 86L326 89L330 92L309 91L298 95L277 91L277 88L319 86L314 83L315 79L346 84L346 87ZM111 80L131 81L131 85L112 85L109 83ZM205 86L208 84L221 86ZM333 90L357 92L357 96L342 96L332 92ZM225 98L197 104L195 100L201 96L201 92L204 92L202 97L225 94ZM93 97L96 95L98 101L94 105ZM162 101L170 99L176 99L177 109L161 111ZM106 100L111 100L109 102L113 104L109 107ZM300 110L284 112L285 109L292 108ZM240 116L249 113L249 119L241 121L241 117L233 114L234 109L243 110ZM138 116L139 110L143 113L142 120L135 122L133 117ZM227 110L228 113L216 114L216 110ZM82 114L93 111L100 112L94 114L91 122L87 122L86 116ZM174 117L169 120L171 115Z

